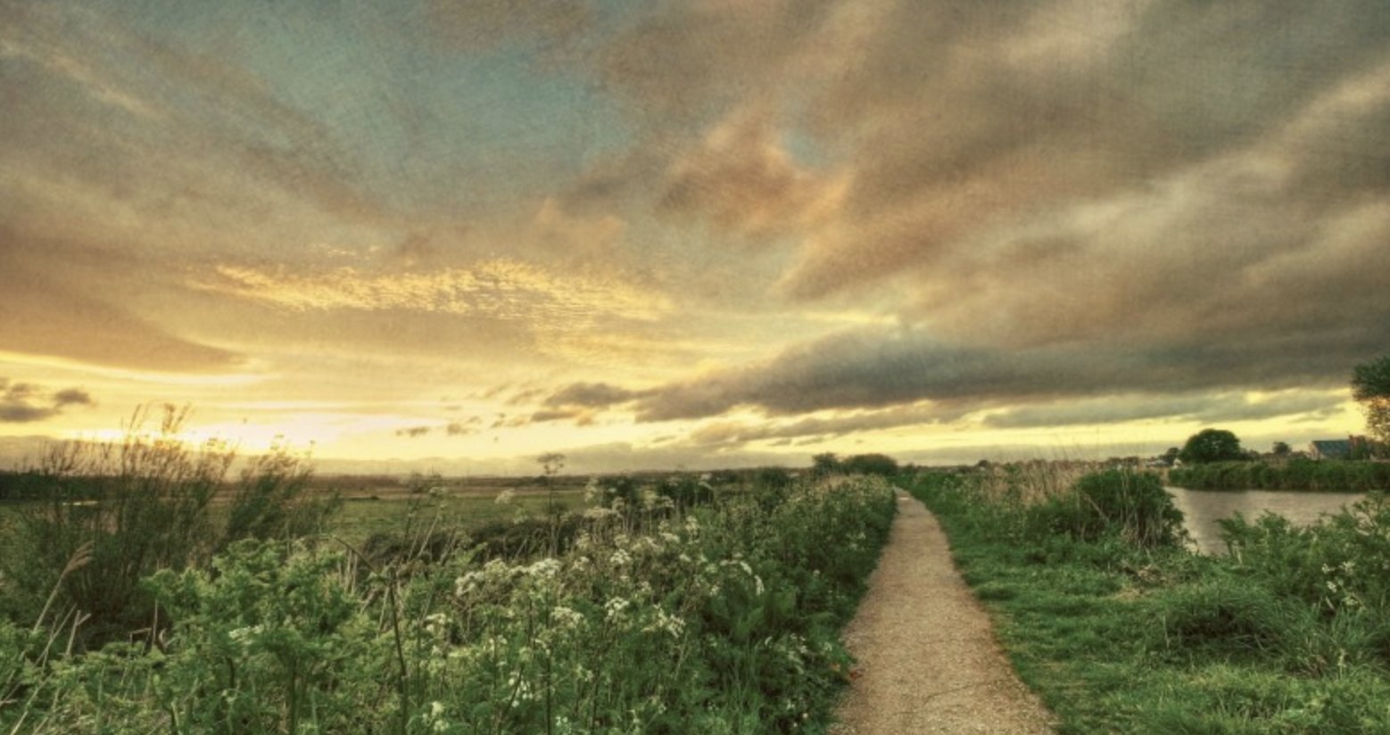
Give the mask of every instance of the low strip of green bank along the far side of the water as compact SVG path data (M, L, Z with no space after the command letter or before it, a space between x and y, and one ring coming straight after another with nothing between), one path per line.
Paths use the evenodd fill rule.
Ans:
M1348 460L1222 461L1169 470L1168 481L1194 490L1390 490L1390 463Z

